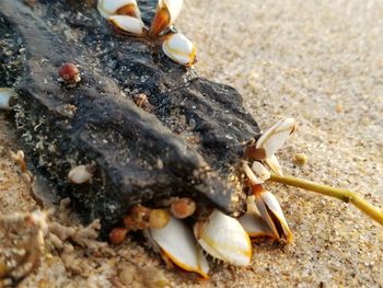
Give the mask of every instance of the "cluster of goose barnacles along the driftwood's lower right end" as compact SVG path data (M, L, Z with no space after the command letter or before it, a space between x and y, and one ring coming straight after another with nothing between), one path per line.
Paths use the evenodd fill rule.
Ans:
M134 207L124 218L124 227L109 233L111 242L120 244L128 231L141 230L166 263L198 273L204 278L209 275L209 264L202 251L225 263L247 266L252 260L252 238L291 242L292 233L282 209L276 196L263 185L271 173L282 175L275 153L294 129L294 119L287 118L266 130L256 142L247 145L242 178L251 193L243 216L230 217L190 198L171 198L163 200L160 209ZM193 232L188 222L183 221L185 218L194 222Z

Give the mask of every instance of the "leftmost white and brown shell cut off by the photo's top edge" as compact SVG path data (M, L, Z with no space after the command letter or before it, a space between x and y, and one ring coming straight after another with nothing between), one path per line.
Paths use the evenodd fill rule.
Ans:
M141 19L136 0L98 0L97 10L106 19L121 14Z

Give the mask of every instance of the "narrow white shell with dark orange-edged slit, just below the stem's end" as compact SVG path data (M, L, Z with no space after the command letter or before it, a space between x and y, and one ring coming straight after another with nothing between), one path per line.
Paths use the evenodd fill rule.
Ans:
M256 193L255 195L255 204L262 215L262 217L265 219L271 231L274 232L275 237L278 241L281 240L281 237L285 238L288 242L292 241L292 233L290 231L290 228L286 221L285 215L282 209L280 208L280 205L274 196L271 192L264 191L262 193ZM271 215L269 212L272 212L275 216L271 218ZM283 231L282 234L279 234L277 230L277 226L274 222L274 219L278 222L278 227L280 226Z

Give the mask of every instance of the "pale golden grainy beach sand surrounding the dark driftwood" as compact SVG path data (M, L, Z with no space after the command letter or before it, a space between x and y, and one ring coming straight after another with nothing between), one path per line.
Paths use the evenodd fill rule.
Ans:
M236 88L260 127L297 118L298 131L278 153L286 174L347 187L383 207L383 2L186 0L177 26L198 47L199 73ZM10 134L3 124L2 142ZM307 155L307 164L295 165L295 153ZM7 157L0 164L0 177L14 173ZM1 188L1 212L5 198L25 194L20 185ZM255 244L248 268L217 264L210 280L200 281L166 269L129 241L116 249L118 256L84 257L94 269L83 275L65 269L51 252L23 286L111 287L121 269L135 273L137 287L155 286L144 280L148 269L171 287L383 286L382 227L338 200L267 187L280 199L294 241Z

